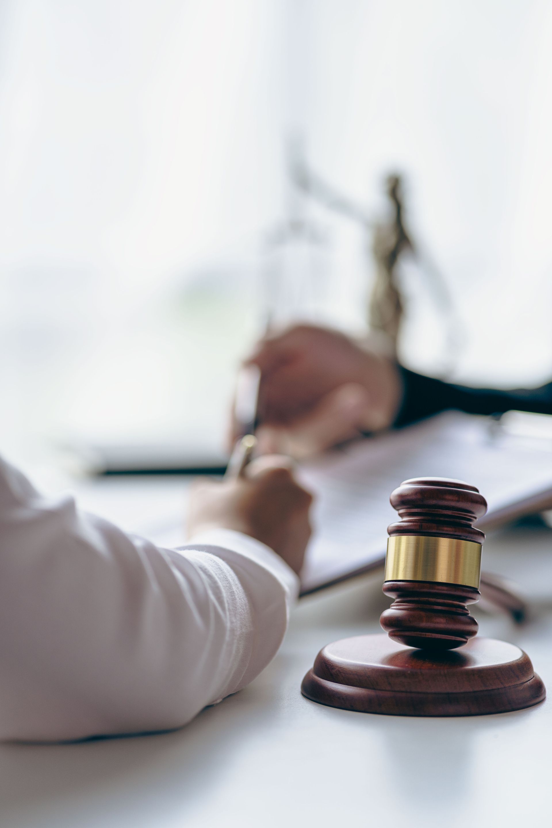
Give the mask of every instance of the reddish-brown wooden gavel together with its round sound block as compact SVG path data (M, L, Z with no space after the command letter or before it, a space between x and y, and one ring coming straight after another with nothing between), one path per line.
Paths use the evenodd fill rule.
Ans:
M545 686L514 644L477 638L485 498L460 480L406 480L391 494L380 619L388 635L324 647L301 687L322 705L409 716L505 713L536 705Z

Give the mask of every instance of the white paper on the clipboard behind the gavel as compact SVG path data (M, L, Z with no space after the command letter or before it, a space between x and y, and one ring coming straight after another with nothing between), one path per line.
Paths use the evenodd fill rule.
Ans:
M299 474L316 495L303 595L382 565L397 518L389 495L403 480L477 486L488 503L482 529L552 506L552 443L516 439L488 417L460 412L349 444Z

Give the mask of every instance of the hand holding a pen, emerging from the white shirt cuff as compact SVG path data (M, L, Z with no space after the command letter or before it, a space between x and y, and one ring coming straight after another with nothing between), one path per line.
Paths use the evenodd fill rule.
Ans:
M202 479L190 497L188 534L235 529L270 546L299 574L310 538L310 493L286 457L260 457L237 479Z

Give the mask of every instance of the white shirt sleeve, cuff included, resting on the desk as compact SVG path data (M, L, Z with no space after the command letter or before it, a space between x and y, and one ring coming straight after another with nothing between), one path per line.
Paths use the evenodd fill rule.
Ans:
M163 549L0 460L0 739L180 727L266 667L298 588L240 532Z

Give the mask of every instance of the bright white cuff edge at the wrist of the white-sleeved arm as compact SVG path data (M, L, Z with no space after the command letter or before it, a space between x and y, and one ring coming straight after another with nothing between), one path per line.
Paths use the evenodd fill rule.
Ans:
M244 535L242 532L236 532L234 529L205 529L204 532L198 532L194 537L191 537L185 546L179 546L179 551L185 549L202 551L201 547L205 546L209 546L209 552L212 554L216 554L213 546L219 546L222 549L238 552L239 555L264 566L281 582L290 599L293 601L297 599L300 587L298 576L286 564L286 561L276 555L276 552L271 550L270 546L266 546L265 543L257 541L249 535Z

